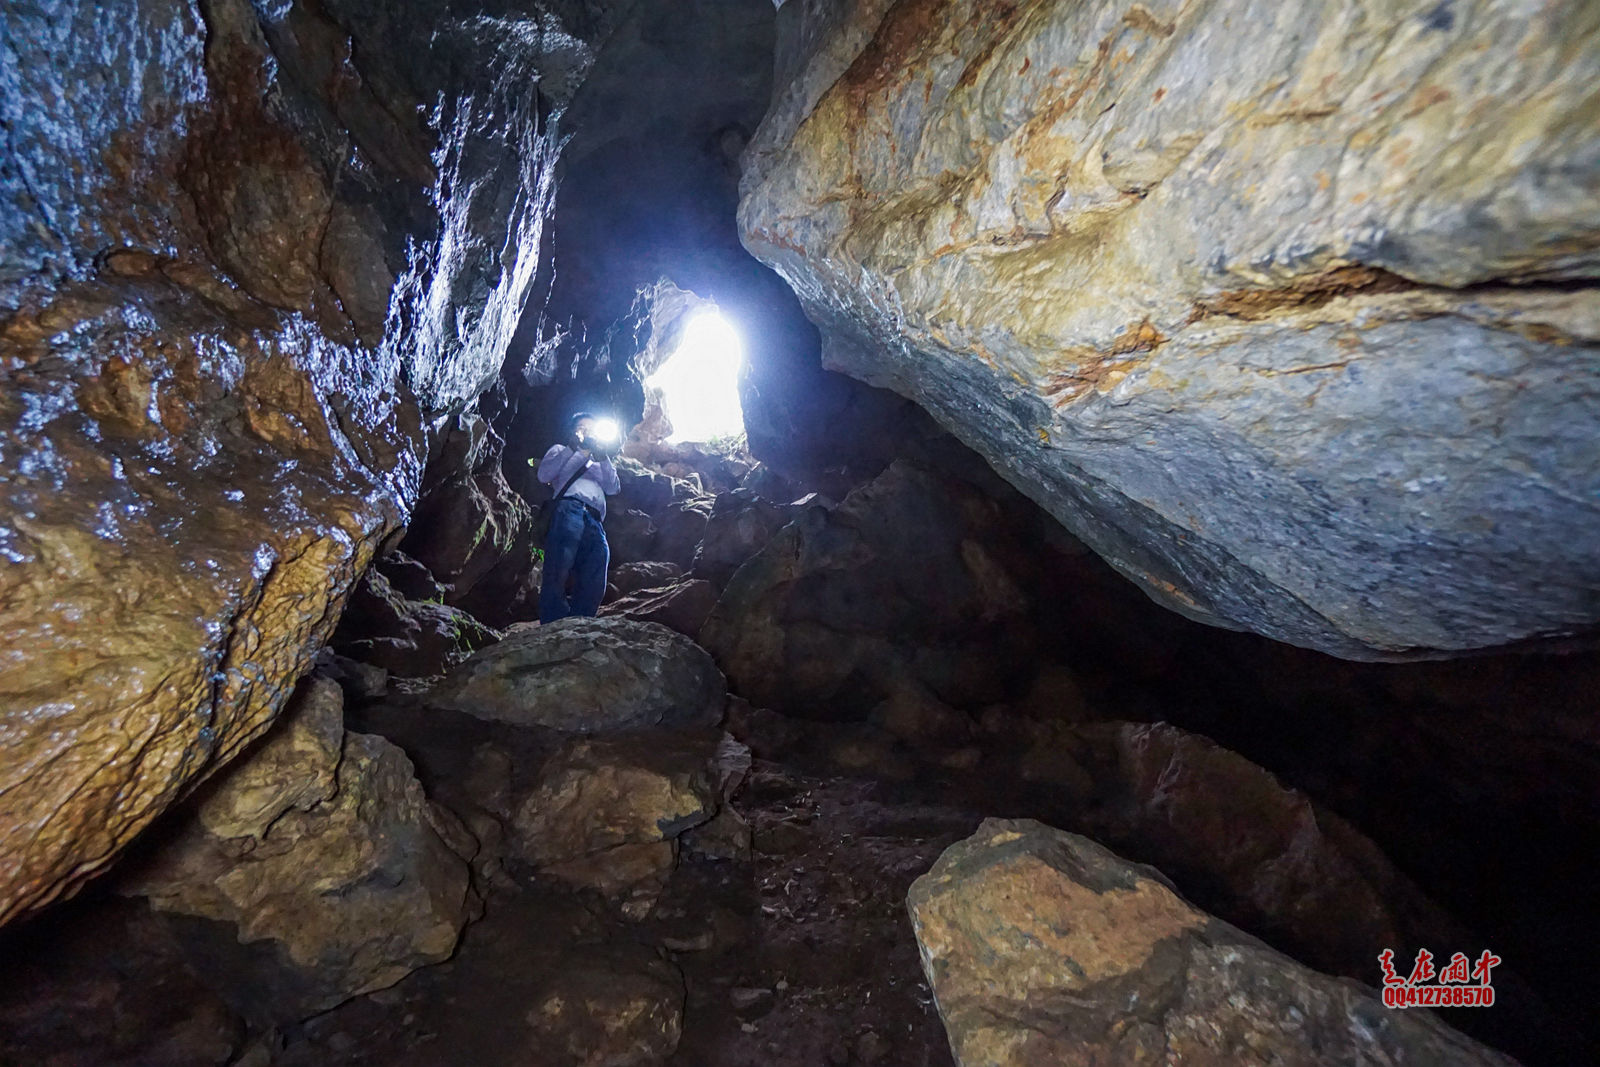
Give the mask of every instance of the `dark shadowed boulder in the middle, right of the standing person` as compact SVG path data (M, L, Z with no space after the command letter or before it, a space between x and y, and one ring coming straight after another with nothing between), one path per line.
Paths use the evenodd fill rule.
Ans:
M701 629L739 696L861 718L904 681L1005 699L1030 664L1029 553L974 486L904 462L843 504L798 509Z

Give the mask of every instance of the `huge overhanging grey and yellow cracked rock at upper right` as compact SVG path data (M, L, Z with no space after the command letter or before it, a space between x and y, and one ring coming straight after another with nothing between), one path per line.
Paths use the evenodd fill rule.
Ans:
M829 366L1205 622L1600 621L1592 5L794 6L739 222Z

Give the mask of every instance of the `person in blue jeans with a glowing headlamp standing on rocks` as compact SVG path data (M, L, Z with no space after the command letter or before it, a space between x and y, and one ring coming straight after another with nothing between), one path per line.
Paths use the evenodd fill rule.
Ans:
M616 422L579 411L570 426L570 442L552 445L538 470L539 482L560 498L544 537L541 624L570 614L600 613L611 565L611 545L603 526L605 498L622 488L611 464L622 443ZM568 579L573 582L571 597L566 595Z

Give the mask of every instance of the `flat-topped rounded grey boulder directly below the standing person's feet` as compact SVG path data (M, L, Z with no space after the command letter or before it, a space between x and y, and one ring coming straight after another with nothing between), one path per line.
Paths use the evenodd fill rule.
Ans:
M717 664L682 633L574 616L512 632L445 675L427 699L502 723L602 733L714 726L725 696Z

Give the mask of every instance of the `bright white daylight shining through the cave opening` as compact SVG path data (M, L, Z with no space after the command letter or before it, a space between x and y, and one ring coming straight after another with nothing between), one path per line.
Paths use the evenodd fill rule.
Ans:
M739 410L738 331L715 310L696 312L678 347L645 384L661 390L661 406L672 421L669 442L709 442L744 432Z

